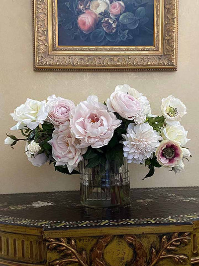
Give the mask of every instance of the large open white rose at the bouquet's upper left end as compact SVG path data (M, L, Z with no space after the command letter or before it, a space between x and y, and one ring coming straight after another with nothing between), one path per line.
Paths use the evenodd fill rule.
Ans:
M27 99L24 104L16 107L14 113L10 114L17 124L10 128L11 130L18 130L27 126L29 129L35 129L48 116L48 106L46 101L36 101Z

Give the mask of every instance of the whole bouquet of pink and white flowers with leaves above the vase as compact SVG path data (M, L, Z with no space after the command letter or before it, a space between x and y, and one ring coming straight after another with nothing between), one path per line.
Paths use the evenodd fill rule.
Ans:
M87 168L105 166L107 160L123 164L143 164L175 173L184 169L191 157L188 131L180 124L187 113L183 102L174 96L162 99L162 116L152 115L150 103L129 85L118 85L106 102L89 96L77 106L73 101L49 96L46 101L27 99L10 114L17 122L11 130L20 130L23 138L9 135L4 143L12 148L25 141L25 153L34 166L46 162L65 174L78 173L78 165L87 160Z

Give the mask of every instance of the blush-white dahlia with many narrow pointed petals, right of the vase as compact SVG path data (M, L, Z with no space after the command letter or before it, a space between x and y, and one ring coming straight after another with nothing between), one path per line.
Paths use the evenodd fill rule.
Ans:
M124 157L128 163L143 164L147 158L152 158L162 137L157 134L149 123L135 125L130 123L127 134L122 135L124 140Z

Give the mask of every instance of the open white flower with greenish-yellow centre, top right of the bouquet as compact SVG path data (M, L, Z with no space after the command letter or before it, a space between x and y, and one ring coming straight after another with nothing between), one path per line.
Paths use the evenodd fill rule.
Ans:
M185 104L172 95L162 99L161 111L170 125L178 125L183 116L187 114L186 110Z

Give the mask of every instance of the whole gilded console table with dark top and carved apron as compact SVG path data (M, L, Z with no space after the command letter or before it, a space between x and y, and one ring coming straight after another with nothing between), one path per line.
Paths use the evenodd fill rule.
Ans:
M96 210L79 192L0 195L0 266L199 266L199 188L131 198Z

